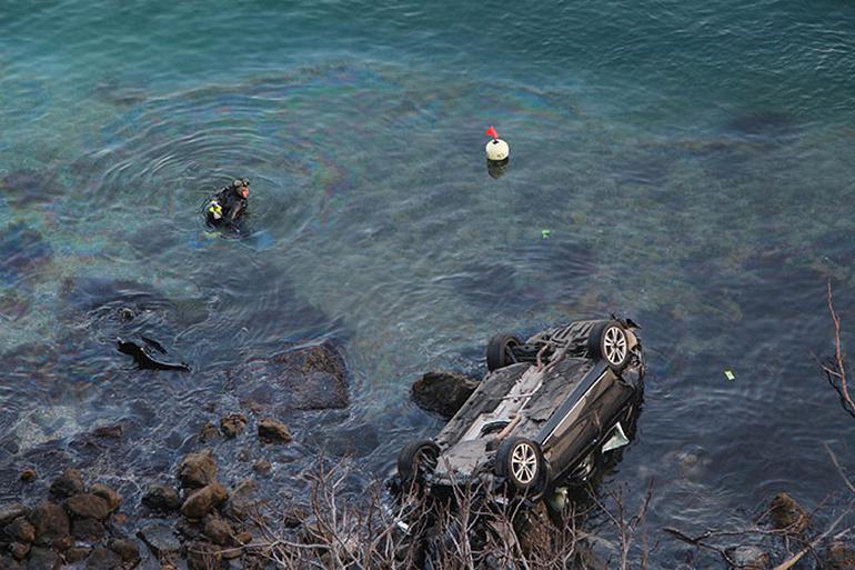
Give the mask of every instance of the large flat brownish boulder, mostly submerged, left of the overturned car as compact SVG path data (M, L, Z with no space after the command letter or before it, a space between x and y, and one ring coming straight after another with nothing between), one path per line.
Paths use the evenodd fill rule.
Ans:
M227 378L241 401L276 414L350 403L344 358L332 341L251 360L228 370Z

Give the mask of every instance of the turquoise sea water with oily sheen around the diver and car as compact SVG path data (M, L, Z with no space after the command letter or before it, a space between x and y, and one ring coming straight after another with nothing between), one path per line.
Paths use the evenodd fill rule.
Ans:
M70 442L110 421L159 450L115 451L114 477L170 469L237 406L219 370L324 336L353 403L283 420L369 433L384 473L440 426L408 401L421 372L618 311L651 374L610 482L655 476L653 528L781 489L816 504L839 488L823 442L855 472L812 357L828 278L855 314L854 92L838 1L1 2L3 478L46 449L83 461ZM251 236L211 237L199 209L235 176ZM169 300L145 326L193 374L128 371L93 309L122 289Z

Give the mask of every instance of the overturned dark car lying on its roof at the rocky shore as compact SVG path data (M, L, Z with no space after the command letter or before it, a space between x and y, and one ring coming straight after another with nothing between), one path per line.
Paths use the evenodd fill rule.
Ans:
M398 459L404 483L440 490L479 481L543 497L585 481L627 442L641 402L644 358L628 319L575 321L525 342L497 334L487 374L432 440Z

